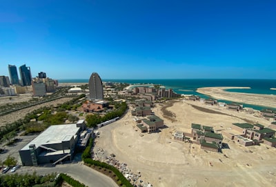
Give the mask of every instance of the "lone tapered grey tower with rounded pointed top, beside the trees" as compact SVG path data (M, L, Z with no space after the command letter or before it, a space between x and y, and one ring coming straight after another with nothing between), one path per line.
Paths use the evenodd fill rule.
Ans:
M89 79L89 99L103 99L103 82L97 72L93 72Z

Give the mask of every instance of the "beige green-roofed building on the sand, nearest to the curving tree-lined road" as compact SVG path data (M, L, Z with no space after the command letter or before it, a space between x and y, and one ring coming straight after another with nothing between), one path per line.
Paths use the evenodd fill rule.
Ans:
M155 115L149 116L148 119L137 120L137 122L141 122L137 125L141 132L156 132L164 126L164 120Z

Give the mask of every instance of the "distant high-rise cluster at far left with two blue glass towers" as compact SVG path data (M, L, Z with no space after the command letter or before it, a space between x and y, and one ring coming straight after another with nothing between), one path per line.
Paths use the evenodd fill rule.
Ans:
M39 76L32 78L30 67L24 64L19 67L19 80L17 66L8 65L10 78L0 76L0 95L17 95L33 92L34 96L45 96L46 92L55 92L57 80L50 79L46 72L39 72Z

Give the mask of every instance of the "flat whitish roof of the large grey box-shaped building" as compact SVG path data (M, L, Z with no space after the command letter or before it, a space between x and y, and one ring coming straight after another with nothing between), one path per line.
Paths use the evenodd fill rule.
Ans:
M59 144L61 141L64 141L64 139L68 140L69 137L76 135L78 131L79 127L77 127L77 124L50 126L21 150L29 150L31 144L35 144L37 148L41 145Z

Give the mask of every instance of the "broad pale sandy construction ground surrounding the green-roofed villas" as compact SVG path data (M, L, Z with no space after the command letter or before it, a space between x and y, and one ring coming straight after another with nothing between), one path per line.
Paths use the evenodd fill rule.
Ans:
M244 147L224 139L229 149L222 153L201 150L198 145L175 141L175 130L190 132L191 123L213 126L215 131L230 129L233 123L269 121L255 114L206 106L199 101L177 101L167 110L175 117L163 116L157 104L153 111L164 119L167 128L152 134L136 131L130 111L119 121L99 128L95 148L103 148L128 164L141 179L153 186L276 186L276 149L265 145ZM203 112L193 105L226 113ZM142 136L143 135L143 136ZM210 164L211 163L211 164ZM212 166L211 166L212 165Z

